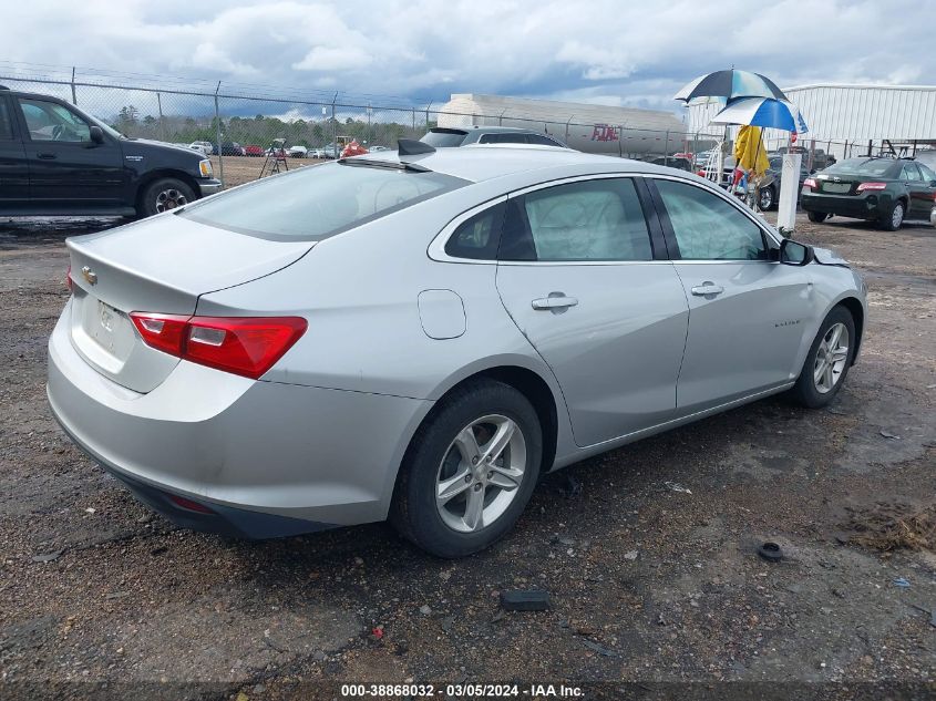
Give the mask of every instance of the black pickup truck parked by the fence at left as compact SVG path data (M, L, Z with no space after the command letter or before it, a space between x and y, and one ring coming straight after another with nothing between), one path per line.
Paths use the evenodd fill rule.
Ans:
M0 85L0 216L150 216L220 189L200 153Z

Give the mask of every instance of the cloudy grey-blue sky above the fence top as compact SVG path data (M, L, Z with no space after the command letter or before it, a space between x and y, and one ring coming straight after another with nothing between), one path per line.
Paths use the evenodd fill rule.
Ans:
M936 0L43 0L3 16L0 73L78 65L419 104L675 109L683 83L732 64L781 86L936 83Z

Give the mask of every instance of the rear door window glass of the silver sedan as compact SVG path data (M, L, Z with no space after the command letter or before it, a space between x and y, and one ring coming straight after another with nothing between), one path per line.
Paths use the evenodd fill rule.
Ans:
M629 178L528 193L504 225L502 260L651 260L650 235Z

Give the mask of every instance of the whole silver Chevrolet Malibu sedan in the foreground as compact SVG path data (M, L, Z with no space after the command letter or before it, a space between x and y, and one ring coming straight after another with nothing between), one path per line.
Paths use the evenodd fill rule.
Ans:
M537 478L779 392L827 404L865 287L688 173L548 146L301 168L71 238L68 434L250 538L389 518L442 557Z

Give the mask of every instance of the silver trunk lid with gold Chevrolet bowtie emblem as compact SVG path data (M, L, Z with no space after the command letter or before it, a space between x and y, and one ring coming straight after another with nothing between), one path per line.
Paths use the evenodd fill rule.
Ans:
M163 215L66 241L72 344L103 375L155 389L178 359L146 346L133 311L192 315L198 297L291 265L315 244L270 241Z

